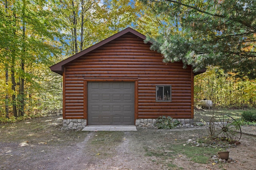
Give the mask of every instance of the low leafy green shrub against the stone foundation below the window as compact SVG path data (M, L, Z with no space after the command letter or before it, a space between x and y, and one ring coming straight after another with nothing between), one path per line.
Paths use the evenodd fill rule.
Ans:
M172 117L170 116L160 116L156 121L156 127L158 129L174 129L179 124L179 121L177 121L176 119L175 121L173 121Z

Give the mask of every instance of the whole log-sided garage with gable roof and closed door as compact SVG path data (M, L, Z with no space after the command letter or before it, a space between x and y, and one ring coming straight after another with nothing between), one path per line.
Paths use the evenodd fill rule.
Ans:
M64 125L136 125L162 115L193 119L194 75L201 72L163 63L145 38L128 27L50 67L63 76Z

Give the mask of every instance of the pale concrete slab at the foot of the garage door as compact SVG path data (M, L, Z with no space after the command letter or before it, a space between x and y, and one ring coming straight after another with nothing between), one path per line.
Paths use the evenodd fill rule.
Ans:
M137 131L136 126L86 126L82 131Z

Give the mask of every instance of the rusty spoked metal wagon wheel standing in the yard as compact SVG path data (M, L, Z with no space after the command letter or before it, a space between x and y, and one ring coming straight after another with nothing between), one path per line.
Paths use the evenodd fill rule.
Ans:
M227 118L226 118L227 117ZM239 122L230 115L219 114L214 116L215 137L230 143L241 139L242 131Z

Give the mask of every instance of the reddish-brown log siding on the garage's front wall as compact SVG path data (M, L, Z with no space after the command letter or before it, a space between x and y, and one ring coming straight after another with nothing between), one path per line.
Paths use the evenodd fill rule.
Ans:
M136 119L161 115L193 118L194 75L191 66L186 69L182 66L182 63L163 63L162 55L151 51L150 44L126 33L65 65L63 118L86 119L84 81L92 78L137 79ZM172 86L172 102L156 102L156 85Z

